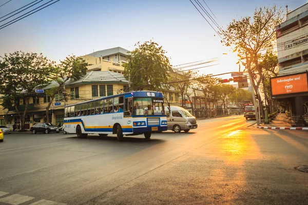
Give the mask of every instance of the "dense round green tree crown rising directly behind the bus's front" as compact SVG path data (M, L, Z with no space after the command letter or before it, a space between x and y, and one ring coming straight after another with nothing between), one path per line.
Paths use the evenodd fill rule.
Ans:
M132 90L160 90L159 84L168 80L171 66L166 51L157 43L148 40L127 55L124 76ZM158 85L158 86L157 86Z

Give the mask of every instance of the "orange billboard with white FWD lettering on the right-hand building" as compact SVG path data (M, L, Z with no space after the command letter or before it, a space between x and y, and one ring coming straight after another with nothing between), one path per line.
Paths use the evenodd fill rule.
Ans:
M271 78L272 96L308 93L307 73Z

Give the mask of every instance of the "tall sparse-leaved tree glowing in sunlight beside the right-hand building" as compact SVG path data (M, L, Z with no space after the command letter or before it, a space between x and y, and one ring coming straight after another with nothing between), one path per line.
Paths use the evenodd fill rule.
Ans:
M276 40L276 26L284 19L282 9L264 7L255 10L253 18L243 17L233 21L225 30L224 45L232 47L238 53L249 77L253 79L253 88L258 93L260 84L265 88L265 79L259 65L261 53L272 49ZM264 92L266 92L264 90Z

